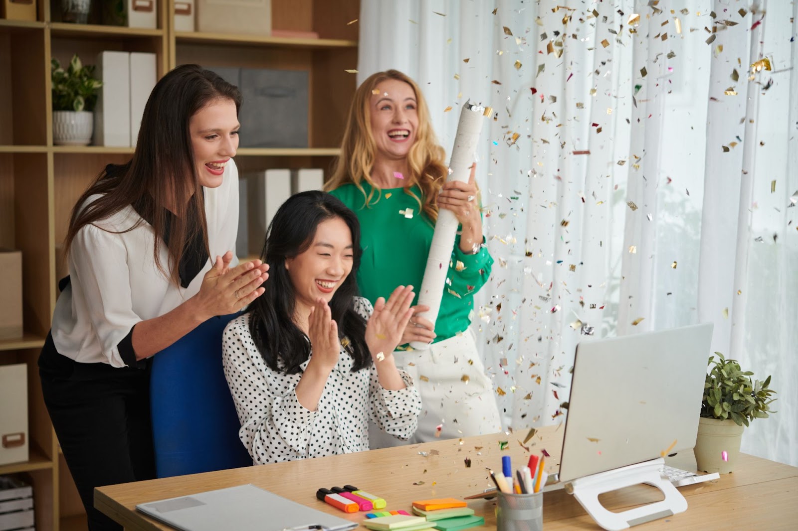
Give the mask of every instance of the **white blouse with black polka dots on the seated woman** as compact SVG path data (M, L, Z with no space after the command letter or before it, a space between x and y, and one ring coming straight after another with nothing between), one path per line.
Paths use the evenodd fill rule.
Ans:
M364 318L373 311L361 297L355 297L355 309ZM250 316L245 313L225 328L222 360L241 422L239 438L255 464L368 450L369 418L397 439L409 439L416 431L421 397L413 379L400 371L406 387L389 391L377 380L373 364L351 372L353 360L345 348L316 411L302 407L296 387L310 359L300 365L298 374L273 371L252 340ZM283 368L282 360L279 367Z

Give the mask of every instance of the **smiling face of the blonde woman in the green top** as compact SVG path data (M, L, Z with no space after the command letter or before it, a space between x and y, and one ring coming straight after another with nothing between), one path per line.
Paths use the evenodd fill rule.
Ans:
M405 159L416 141L416 92L405 81L381 81L369 99L369 124L377 159Z

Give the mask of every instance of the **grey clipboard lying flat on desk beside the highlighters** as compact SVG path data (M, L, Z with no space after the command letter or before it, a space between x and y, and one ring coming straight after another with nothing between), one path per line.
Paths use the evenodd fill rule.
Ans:
M136 510L180 531L349 531L345 520L254 485L149 501Z

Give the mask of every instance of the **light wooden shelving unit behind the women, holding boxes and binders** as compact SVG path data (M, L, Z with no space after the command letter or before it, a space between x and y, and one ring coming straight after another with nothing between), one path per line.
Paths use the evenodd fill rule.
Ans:
M77 53L92 64L102 50L156 53L159 76L176 65L302 69L309 73L308 148L242 148L241 173L323 167L338 155L358 64L359 0L272 0L272 26L315 31L318 39L184 33L172 27L174 0L158 6L156 30L68 24L37 0L38 21L0 19L0 246L22 250L25 333L0 340L0 364L28 365L30 459L0 466L34 486L36 527L86 529L85 514L41 398L37 359L57 297L56 246L77 198L107 163L133 148L53 145L49 64Z

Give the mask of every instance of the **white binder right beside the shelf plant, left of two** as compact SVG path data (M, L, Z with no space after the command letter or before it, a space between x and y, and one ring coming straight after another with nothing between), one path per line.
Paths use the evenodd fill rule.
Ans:
M94 108L94 144L129 148L130 53L98 53L96 73L102 87Z

